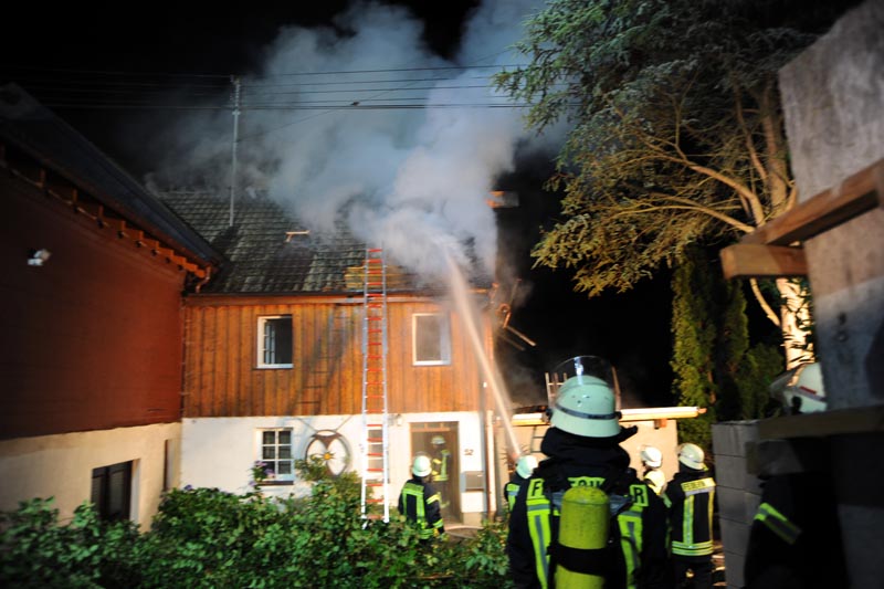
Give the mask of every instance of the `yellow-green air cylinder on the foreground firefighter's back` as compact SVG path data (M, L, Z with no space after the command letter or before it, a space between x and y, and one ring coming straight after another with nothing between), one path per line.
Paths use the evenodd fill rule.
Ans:
M591 550L604 548L608 543L610 517L608 495L593 486L569 488L561 499L559 544L568 548ZM604 578L568 570L556 566L557 589L601 589Z

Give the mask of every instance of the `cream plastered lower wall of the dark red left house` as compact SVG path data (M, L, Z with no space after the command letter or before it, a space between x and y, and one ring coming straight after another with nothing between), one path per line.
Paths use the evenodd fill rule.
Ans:
M91 498L93 469L131 461L130 517L147 529L167 473L170 485L177 484L180 440L180 423L162 423L0 441L0 509L15 509L25 499L54 497L53 505L65 522Z

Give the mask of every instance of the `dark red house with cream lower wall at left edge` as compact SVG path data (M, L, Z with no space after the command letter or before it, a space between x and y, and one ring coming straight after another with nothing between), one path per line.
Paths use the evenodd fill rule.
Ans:
M218 254L46 108L0 87L0 509L149 524L177 484L181 292Z

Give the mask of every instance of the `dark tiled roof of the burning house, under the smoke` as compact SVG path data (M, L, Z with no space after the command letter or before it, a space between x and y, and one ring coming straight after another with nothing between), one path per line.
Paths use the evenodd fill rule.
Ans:
M160 194L166 204L227 259L200 292L217 294L352 294L362 292L366 244L346 228L318 234L263 194L234 202L211 191ZM387 265L388 292L435 290ZM438 287L436 287L438 288Z

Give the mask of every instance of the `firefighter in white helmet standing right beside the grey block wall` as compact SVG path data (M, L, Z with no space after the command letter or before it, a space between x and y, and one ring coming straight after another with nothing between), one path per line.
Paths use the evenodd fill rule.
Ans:
M715 481L696 444L678 446L678 472L666 485L663 497L670 507L672 561L680 587L712 587L712 517ZM693 572L693 579L688 577Z

